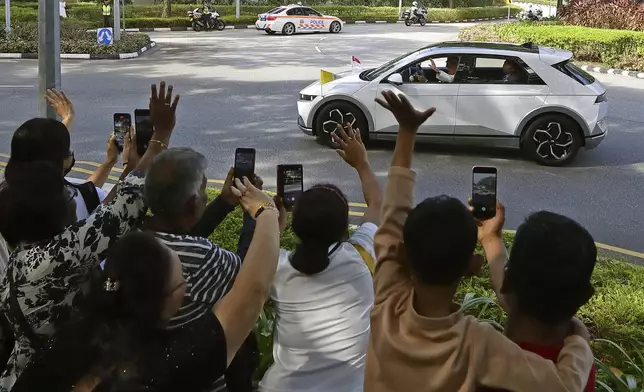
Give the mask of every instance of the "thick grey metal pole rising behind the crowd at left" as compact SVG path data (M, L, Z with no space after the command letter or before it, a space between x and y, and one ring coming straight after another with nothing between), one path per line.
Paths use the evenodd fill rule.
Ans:
M60 9L59 0L38 0L38 112L56 118L56 111L45 101L47 89L60 89Z

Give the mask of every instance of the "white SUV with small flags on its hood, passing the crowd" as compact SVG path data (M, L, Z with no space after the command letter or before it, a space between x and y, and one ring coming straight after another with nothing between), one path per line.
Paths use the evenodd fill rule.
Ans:
M395 139L396 120L374 101L393 90L419 109L437 109L419 130L420 141L521 148L542 165L563 166L581 147L599 145L607 131L606 89L571 58L531 43L432 44L309 85L299 95L298 125L322 144L342 122L360 128L365 141ZM439 81L432 63L441 80L452 81Z

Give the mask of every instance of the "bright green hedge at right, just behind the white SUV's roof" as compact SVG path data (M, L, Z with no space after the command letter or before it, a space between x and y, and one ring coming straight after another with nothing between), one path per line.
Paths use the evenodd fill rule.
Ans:
M459 37L466 41L534 42L570 50L576 61L644 70L644 32L525 22L473 26L461 30Z

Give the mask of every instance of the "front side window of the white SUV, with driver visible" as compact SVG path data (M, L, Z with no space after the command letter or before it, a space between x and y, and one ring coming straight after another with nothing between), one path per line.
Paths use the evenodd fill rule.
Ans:
M457 83L462 66L459 56L428 57L400 69L403 83Z

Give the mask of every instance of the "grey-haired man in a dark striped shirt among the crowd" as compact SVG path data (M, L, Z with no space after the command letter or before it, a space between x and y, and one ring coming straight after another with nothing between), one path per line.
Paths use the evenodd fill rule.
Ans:
M145 199L152 217L144 229L155 232L163 244L177 252L187 283L184 302L168 325L171 330L199 319L230 290L252 240L254 227L246 226L253 225L253 219L244 219L240 255L208 239L239 199L230 190L231 169L221 194L206 205L207 165L206 158L190 148L171 148L155 158L145 179ZM259 177L251 181L261 189ZM224 391L224 379L212 390Z

